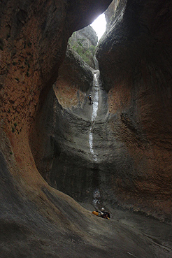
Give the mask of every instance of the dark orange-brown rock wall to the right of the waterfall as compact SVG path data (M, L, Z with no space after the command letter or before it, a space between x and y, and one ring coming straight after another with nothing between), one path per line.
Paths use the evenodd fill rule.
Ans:
M104 187L170 217L171 3L122 3L96 53L110 115Z

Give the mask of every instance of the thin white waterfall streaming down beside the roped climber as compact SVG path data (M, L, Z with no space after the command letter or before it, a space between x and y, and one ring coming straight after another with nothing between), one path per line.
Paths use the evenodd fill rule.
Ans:
M93 87L92 87L92 125L94 120L96 119L96 115L98 112L99 106L99 70L94 71L94 78L93 78ZM92 134L92 126L89 129L89 150L92 154L92 158L94 162L97 162L97 157L93 150L93 134Z

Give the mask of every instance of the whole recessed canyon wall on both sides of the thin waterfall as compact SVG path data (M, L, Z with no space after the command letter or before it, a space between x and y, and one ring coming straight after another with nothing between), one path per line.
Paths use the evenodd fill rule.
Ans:
M87 100L92 69L68 50L55 94L51 91L36 118L38 134L32 133L31 150L43 178L77 201L92 203L99 190L103 206L129 208L169 222L171 65L165 52L171 55L171 34L167 41L162 30L160 41L157 35L162 34L151 26L162 10L168 13L171 8L152 3L152 14L159 10L155 22L143 3L117 1L109 8L108 30L96 52L101 82L94 124ZM170 26L165 17L164 26ZM91 125L96 162L89 148Z

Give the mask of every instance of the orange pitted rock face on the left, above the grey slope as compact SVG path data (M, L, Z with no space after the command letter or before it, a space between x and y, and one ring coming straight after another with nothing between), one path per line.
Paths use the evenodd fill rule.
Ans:
M57 79L68 38L108 3L94 1L85 6L85 1L76 1L74 9L63 0L0 3L0 147L10 173L27 191L47 185L36 169L29 130ZM28 196L34 199L31 192Z

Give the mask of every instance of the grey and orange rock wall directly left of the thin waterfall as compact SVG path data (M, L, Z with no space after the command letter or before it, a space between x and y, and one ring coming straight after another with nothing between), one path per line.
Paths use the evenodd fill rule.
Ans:
M50 185L71 196L76 196L76 192L83 195L83 185L78 178L83 178L90 170L87 164L91 122L87 96L92 79L90 67L68 46L59 67L59 77L36 119L37 133L33 130L30 137L38 171ZM73 187L69 182L73 182Z

